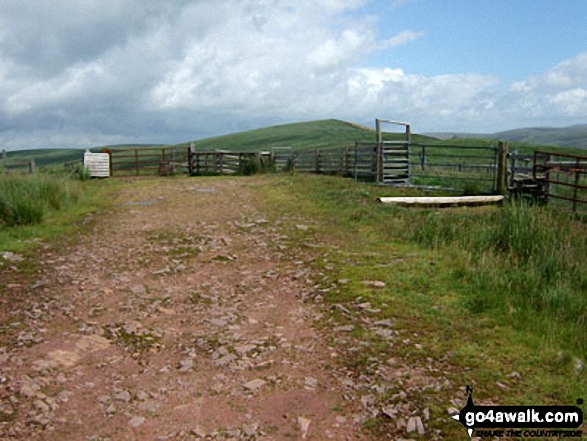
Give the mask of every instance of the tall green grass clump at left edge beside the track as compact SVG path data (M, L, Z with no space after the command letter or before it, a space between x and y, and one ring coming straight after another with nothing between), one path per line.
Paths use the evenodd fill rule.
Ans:
M57 176L0 176L0 226L40 223L47 212L76 203L83 195L79 182Z

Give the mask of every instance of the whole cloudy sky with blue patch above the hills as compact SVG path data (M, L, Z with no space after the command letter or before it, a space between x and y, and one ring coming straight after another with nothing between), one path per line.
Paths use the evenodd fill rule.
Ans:
M587 123L587 0L1 0L0 149Z

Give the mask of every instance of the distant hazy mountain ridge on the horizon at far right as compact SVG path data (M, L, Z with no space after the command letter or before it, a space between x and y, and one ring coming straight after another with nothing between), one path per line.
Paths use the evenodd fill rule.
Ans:
M499 139L501 141L515 141L527 144L551 145L557 147L573 147L587 150L587 124L577 124L567 127L528 127L489 134L436 132L427 133L426 135L433 136L438 139Z

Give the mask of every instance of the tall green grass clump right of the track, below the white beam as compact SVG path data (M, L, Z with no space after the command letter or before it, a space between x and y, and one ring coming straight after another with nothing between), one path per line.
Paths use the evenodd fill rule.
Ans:
M528 204L493 212L406 212L408 237L459 261L465 305L587 355L587 225Z

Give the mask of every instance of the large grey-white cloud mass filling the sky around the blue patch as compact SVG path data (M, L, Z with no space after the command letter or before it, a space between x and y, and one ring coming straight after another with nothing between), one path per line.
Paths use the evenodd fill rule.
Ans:
M424 33L379 41L376 20L361 10L368 3L3 1L0 142L179 142L319 118L391 117L416 131L585 118L587 53L510 85L370 67L374 51L393 55Z

